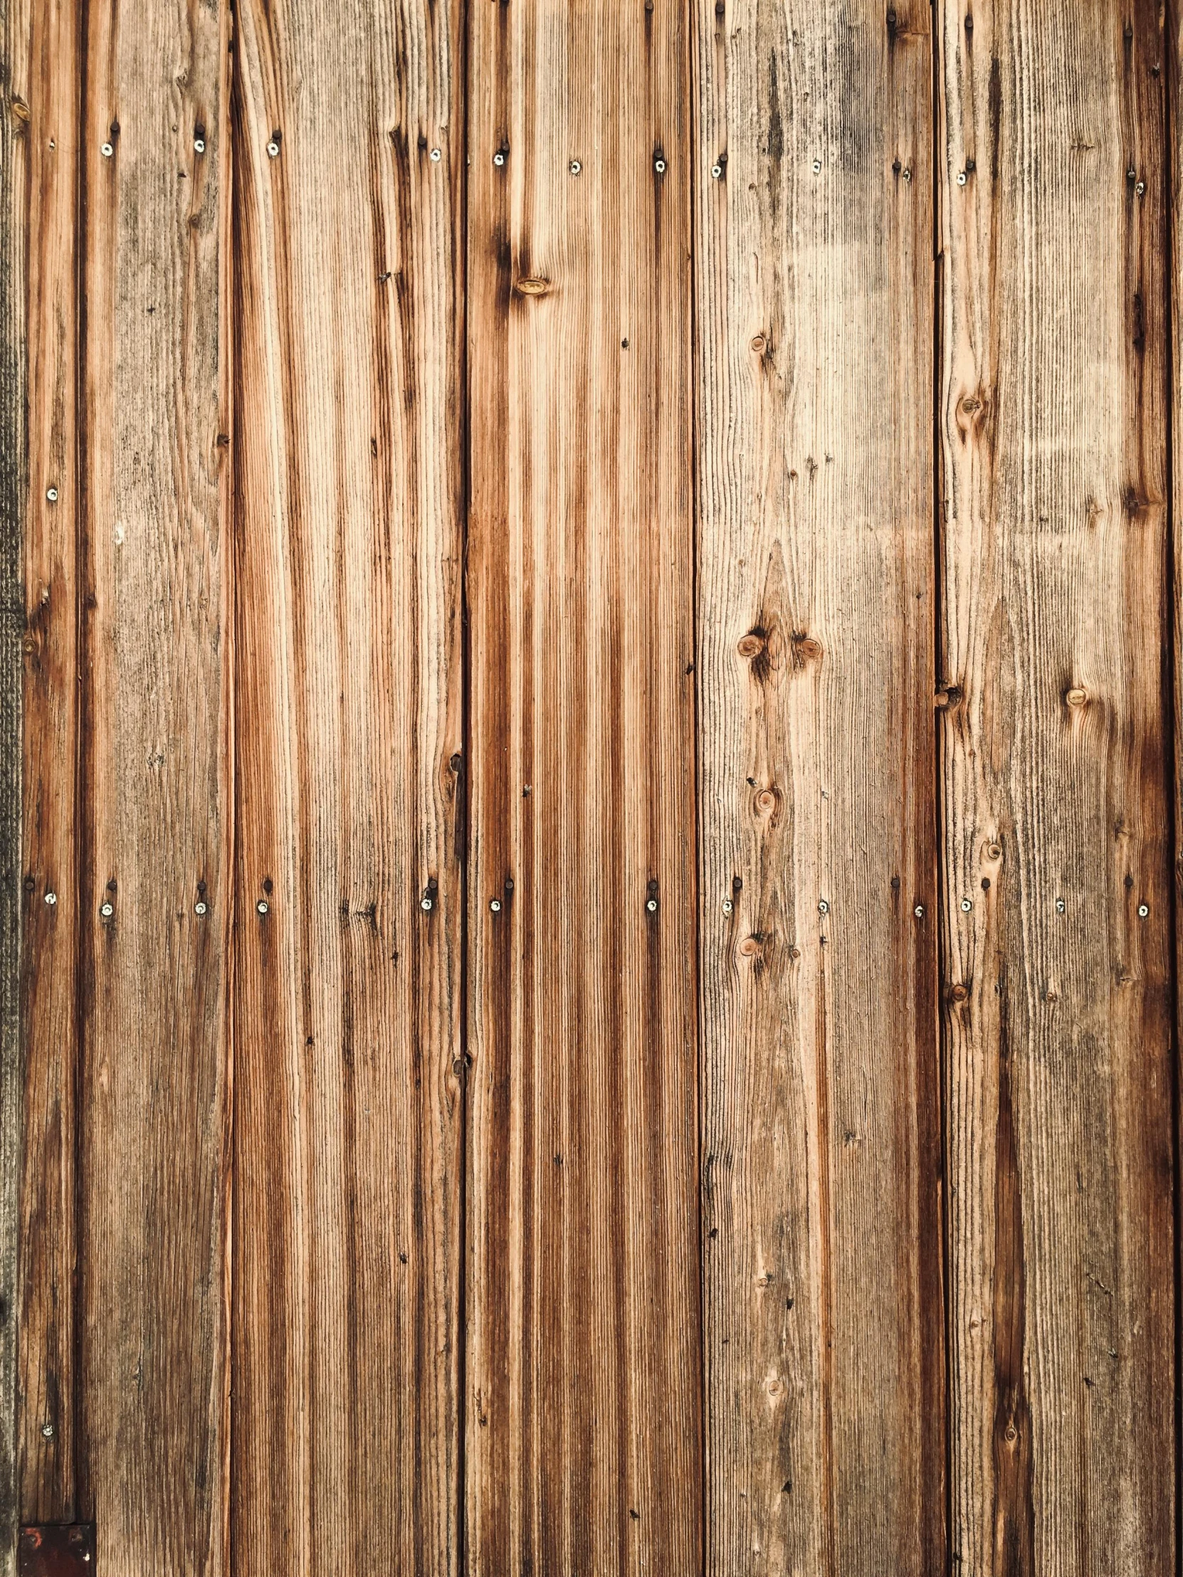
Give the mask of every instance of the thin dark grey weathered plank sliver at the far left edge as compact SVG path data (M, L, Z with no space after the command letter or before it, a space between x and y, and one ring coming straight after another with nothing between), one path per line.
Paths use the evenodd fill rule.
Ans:
M25 637L28 509L28 172L32 16L0 0L0 1574L11 1577L17 1506L19 1183Z

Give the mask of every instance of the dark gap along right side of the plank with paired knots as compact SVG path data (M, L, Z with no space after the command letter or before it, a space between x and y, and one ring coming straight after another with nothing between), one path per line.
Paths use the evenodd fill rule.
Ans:
M943 349L945 349L945 251L942 246L942 173L945 170L945 150L943 150L943 117L942 117L942 63L945 58L945 3L946 0L935 0L932 6L932 672L939 684L945 683L945 642L943 642L943 620L945 620L945 576L943 576L943 550L945 550L945 456L942 448L942 410L943 410ZM948 1047L945 1042L945 1025L940 1011L942 992L942 970L943 970L943 938L945 938L945 908L946 894L943 882L942 867L942 850L945 847L945 768L943 768L943 738L942 738L942 713L934 708L932 713L932 823L934 823L934 847L932 847L932 923L935 926L934 946L927 953L927 959L935 967L935 981L932 992L934 1003L934 1033L937 1038L937 1129L939 1129L939 1145L940 1151L937 1156L939 1180L940 1180L940 1208L939 1208L939 1241L931 1244L940 1255L940 1282L942 1296L945 1299L943 1310L943 1385L942 1385L942 1426L945 1432L945 1493L943 1493L943 1520L945 1520L945 1552L943 1552L943 1568L946 1572L954 1569L953 1556L953 1298L950 1288L950 1274L953 1265L953 1243L950 1241L950 1208L948 1208ZM920 967L920 962L918 962ZM926 1246L921 1246L924 1252Z

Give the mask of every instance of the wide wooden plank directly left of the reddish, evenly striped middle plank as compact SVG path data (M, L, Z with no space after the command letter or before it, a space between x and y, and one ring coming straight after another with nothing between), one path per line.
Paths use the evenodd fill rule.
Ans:
M457 1568L459 16L238 11L244 1574Z

